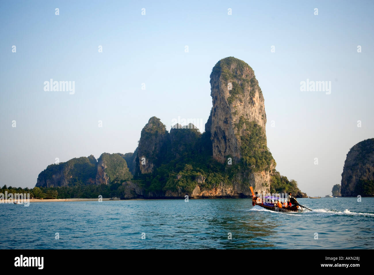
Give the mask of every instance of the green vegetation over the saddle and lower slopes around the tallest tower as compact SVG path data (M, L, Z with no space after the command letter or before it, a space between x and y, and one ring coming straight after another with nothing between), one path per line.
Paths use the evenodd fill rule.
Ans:
M212 158L209 132L200 134L194 129L172 129L167 158L152 173L135 176L135 182L145 189L145 193L156 196L162 196L168 190L191 195L197 184L200 189L211 189L220 183L232 186L236 175L242 171L269 170L270 165L275 166L275 161L264 143L261 127L252 122L246 127L249 133L242 137L242 161L232 165L220 164ZM271 192L305 195L298 189L296 181L273 172ZM243 184L249 184L249 179L244 178Z

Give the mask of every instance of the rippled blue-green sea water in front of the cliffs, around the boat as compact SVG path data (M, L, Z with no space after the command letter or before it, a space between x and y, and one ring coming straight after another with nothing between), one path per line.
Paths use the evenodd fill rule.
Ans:
M0 204L0 249L374 248L374 198L298 201L314 211L277 213L251 199Z

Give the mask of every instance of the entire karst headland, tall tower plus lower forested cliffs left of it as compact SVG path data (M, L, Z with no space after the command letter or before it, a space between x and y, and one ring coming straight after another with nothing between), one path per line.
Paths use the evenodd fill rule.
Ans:
M252 68L234 57L221 59L210 83L213 106L203 133L193 124L168 132L151 117L134 153L49 165L37 178L34 197L246 198L250 186L259 193L306 196L275 169L264 97Z

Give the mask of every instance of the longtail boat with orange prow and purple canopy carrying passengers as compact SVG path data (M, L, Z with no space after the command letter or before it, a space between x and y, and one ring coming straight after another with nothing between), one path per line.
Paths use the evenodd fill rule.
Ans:
M256 197L253 193L252 186L249 187L252 192L252 205L261 206L267 210L271 211L281 211L281 212L303 212L303 208L298 204L298 202L294 199L295 204L292 206L287 206L284 202L282 203L281 198L273 197L273 196L264 196L262 199Z

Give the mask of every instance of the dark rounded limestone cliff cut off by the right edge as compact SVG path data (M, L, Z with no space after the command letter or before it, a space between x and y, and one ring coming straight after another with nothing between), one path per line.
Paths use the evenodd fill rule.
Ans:
M341 196L374 196L374 138L357 143L347 153L341 174Z

